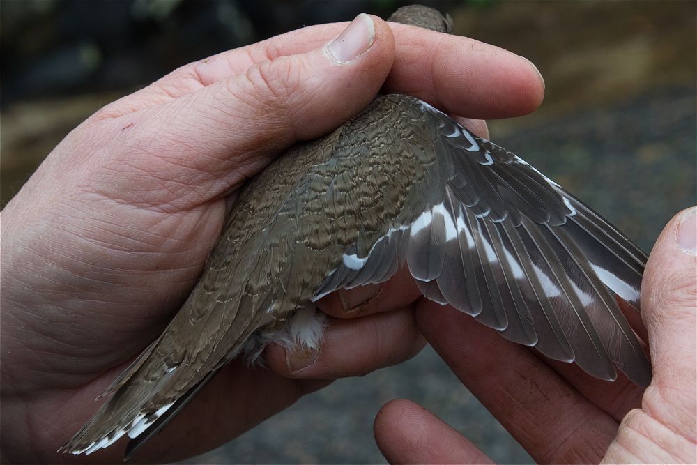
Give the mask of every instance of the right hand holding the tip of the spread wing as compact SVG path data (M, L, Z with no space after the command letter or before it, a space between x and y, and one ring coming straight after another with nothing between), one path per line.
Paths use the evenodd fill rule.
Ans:
M641 292L646 330L630 319L650 348L653 379L646 390L624 375L608 383L505 342L452 308L423 303L419 327L537 462L697 463L696 214L690 208L676 215L652 250ZM406 400L383 406L375 436L391 463L491 462Z

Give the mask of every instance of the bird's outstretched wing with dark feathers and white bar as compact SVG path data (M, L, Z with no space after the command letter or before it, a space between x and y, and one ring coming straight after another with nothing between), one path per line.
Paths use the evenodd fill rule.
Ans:
M647 385L650 365L615 301L638 309L645 253L513 153L420 100L387 98L430 120L419 137L434 155L415 182L422 208L394 218L369 248L359 235L314 298L388 280L401 261L424 296L508 340L600 379L614 380L615 365Z

